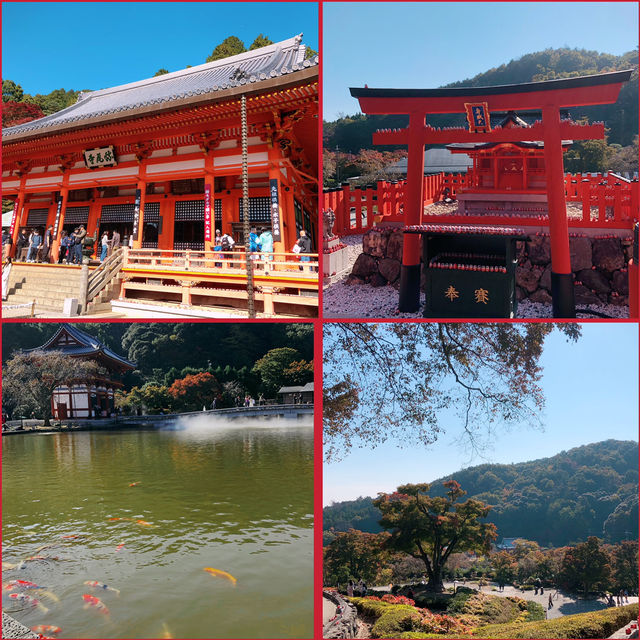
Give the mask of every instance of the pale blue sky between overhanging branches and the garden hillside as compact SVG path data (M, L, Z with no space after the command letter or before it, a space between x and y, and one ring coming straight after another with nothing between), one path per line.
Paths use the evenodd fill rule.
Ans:
M632 323L583 323L578 342L548 336L541 364L547 403L544 431L500 431L484 458L471 458L450 428L429 448L400 449L387 444L355 449L337 464L325 464L325 505L359 496L375 496L400 484L430 482L459 469L515 463L553 456L563 450L607 439L638 441L638 326Z

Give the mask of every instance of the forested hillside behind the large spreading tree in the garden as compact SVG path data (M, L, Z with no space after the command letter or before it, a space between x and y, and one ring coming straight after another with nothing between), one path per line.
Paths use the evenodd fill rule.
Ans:
M433 480L432 493L454 479L469 497L490 505L498 538L522 537L541 545L638 537L638 444L606 440L552 458L519 464L483 464ZM428 480L425 478L425 480ZM380 515L373 498L326 507L325 531L350 528L376 533Z

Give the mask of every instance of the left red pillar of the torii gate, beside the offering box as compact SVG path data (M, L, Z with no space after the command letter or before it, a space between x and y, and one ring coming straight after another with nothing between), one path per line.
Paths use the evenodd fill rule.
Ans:
M424 207L424 121L422 112L409 116L409 153L404 202L404 224L420 224ZM420 307L420 236L404 235L402 268L400 271L400 299L402 312L417 311Z

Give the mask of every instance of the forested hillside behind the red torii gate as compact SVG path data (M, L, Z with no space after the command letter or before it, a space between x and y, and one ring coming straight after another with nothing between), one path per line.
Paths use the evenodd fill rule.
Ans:
M447 87L476 87L552 80L579 75L592 75L606 71L634 69L632 79L623 86L615 105L583 107L570 110L574 119L588 117L603 120L609 129L609 144L627 146L638 135L638 51L614 56L584 49L546 49L511 60L495 69L489 69L473 78L453 82ZM347 89L345 88L345 91ZM354 111L357 102L354 100ZM432 116L434 126L464 126L464 116ZM324 147L335 151L358 153L372 149L371 136L376 129L407 126L406 116L346 116L324 123ZM393 146L380 149L393 150Z

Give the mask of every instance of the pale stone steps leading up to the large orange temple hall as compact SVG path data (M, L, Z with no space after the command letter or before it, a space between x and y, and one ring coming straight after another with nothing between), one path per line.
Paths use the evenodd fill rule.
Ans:
M60 314L65 298L80 297L79 268L14 263L9 275L8 296L3 305L36 301L36 315Z

